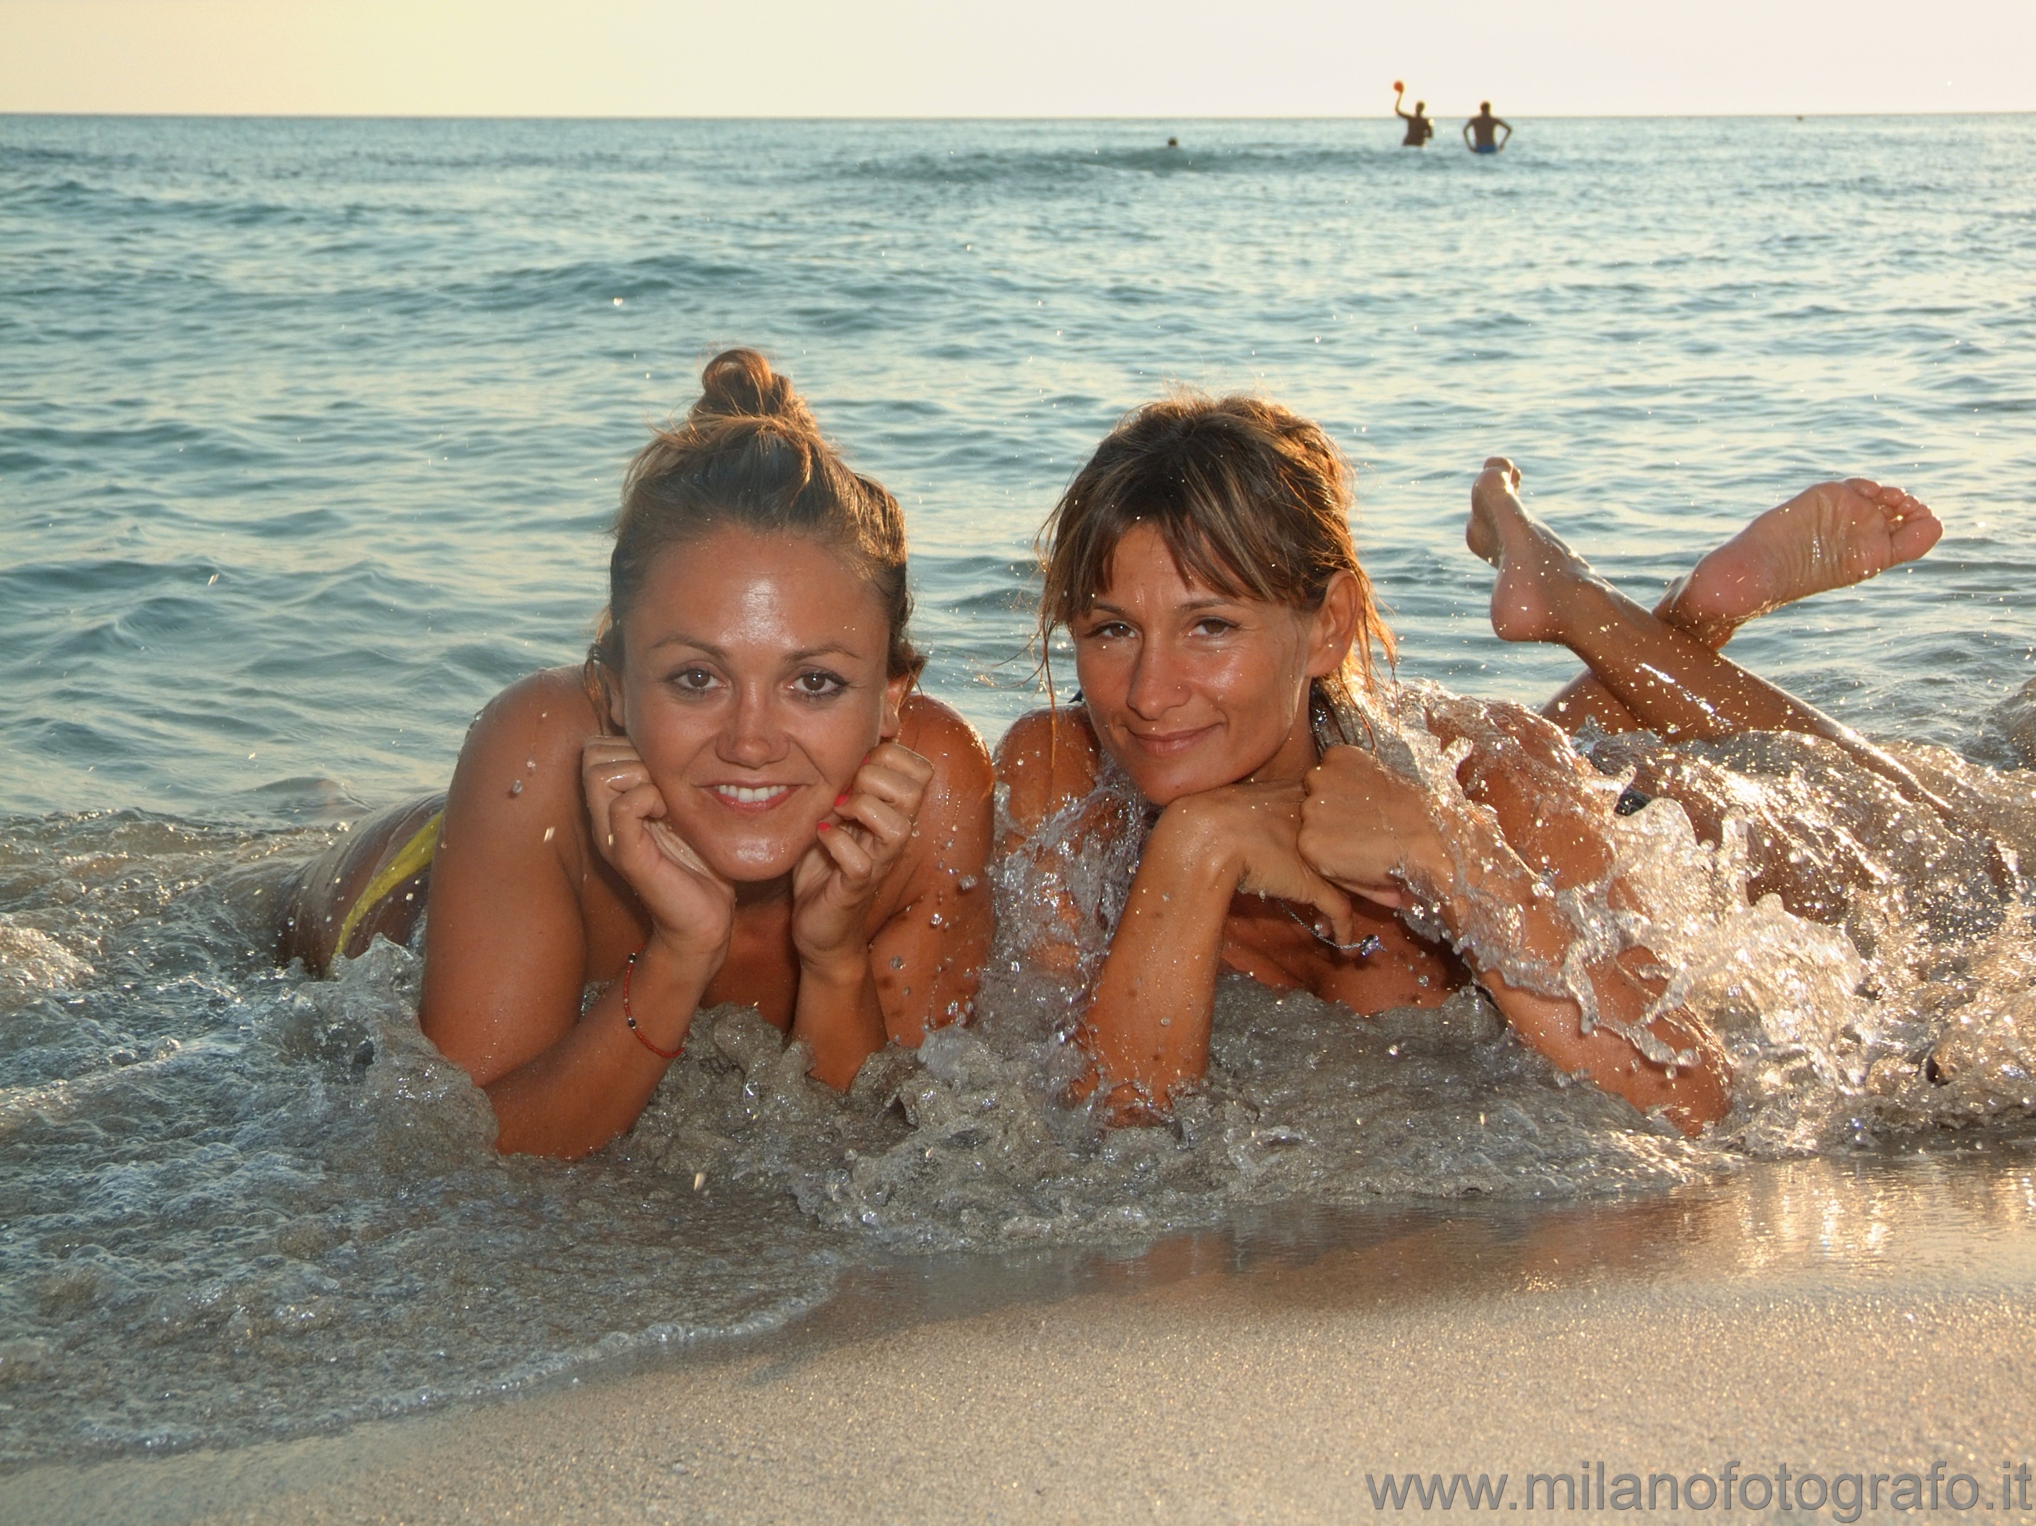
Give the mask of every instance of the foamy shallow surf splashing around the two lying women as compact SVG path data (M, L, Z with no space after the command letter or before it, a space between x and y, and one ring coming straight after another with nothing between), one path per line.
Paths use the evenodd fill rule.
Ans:
M1403 761L1458 787L1411 710ZM1146 830L1110 769L994 869L971 1028L873 1056L837 1097L753 1011L700 1013L633 1133L576 1166L493 1152L487 1101L417 1032L413 952L377 942L324 983L267 966L275 865L330 832L16 822L0 1461L507 1392L778 1325L900 1251L1142 1241L1272 1202L1627 1194L1749 1156L2028 1131L2036 938L1977 830L1891 804L1804 737L1592 755L1615 787L1674 773L1698 814L1729 808L1716 844L1672 800L1617 818L1617 873L1647 914L1568 907L1600 946L1655 948L1672 997L1729 1044L1733 1111L1698 1141L1558 1074L1474 991L1358 1019L1244 977L1220 985L1207 1080L1173 1123L1099 1129L1061 1097ZM2036 846L2028 771L1904 761L2001 850ZM1751 869L1784 822L1802 844L1784 871L1824 889L1816 922Z

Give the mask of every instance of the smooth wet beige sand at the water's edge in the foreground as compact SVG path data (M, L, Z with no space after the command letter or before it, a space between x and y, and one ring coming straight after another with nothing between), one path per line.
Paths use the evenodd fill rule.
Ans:
M1859 1520L2030 1518L1999 1489L2036 1455L2032 1292L2026 1154L1753 1166L1643 1202L1268 1209L1124 1259L900 1261L772 1337L503 1404L29 1469L0 1520L1391 1520L1472 1512L1374 1504L1387 1473L1505 1473L1517 1514L1529 1473L1586 1463L1596 1508L1600 1461L1606 1506L1621 1473L1737 1461L1841 1498L1889 1475ZM1896 1475L1936 1459L1979 1504L1898 1510ZM1782 1518L1659 1489L1641 1518Z

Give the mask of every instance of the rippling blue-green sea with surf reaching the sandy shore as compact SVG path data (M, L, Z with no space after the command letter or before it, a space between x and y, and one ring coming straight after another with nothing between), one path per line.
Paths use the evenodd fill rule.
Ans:
M1910 893L1969 844L1875 836L1800 749L1724 763L1887 871L1843 926L1635 818L1716 891L1684 942L1743 1099L1698 1143L1470 997L1362 1028L1244 981L1205 1093L1104 1133L1042 1058L1077 997L1006 940L973 1030L845 1099L717 1011L635 1133L501 1160L411 950L275 964L248 885L584 653L623 466L733 344L898 494L924 684L989 741L1053 657L1040 521L1173 389L1327 425L1401 678L1484 698L1574 669L1490 633L1486 456L1647 600L1814 480L1898 482L1942 543L1731 653L2036 842L2036 118L1517 128L0 116L0 1469L682 1359L873 1276L1517 1229L1777 1162L1855 1182L1849 1243L1875 1172L2036 1225L2028 897Z

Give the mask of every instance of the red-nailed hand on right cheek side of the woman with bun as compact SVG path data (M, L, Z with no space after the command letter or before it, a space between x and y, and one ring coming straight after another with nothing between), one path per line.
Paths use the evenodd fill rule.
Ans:
M932 763L910 747L878 743L847 794L839 820L821 822L792 871L792 944L804 969L869 964L869 905L912 840Z

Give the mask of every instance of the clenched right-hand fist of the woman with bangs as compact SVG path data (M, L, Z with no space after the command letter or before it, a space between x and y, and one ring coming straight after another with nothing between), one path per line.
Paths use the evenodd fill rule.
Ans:
M1307 779L1299 850L1325 879L1387 907L1407 903L1403 879L1448 877L1450 857L1419 785L1358 747L1332 747Z

